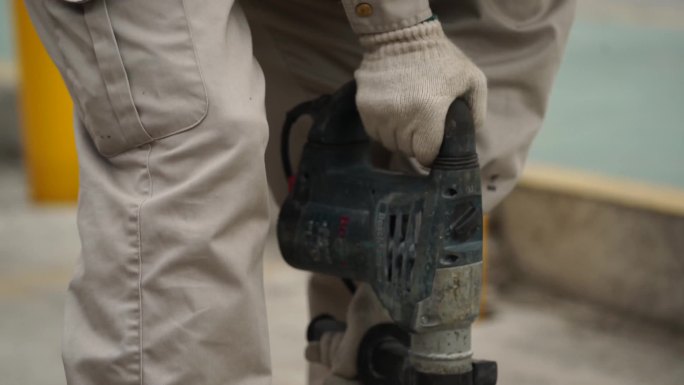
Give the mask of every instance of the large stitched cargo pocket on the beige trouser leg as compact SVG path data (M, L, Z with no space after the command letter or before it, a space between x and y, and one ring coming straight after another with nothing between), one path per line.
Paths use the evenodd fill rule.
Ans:
M209 102L185 0L47 6L56 19L62 73L102 155L120 154L204 119Z

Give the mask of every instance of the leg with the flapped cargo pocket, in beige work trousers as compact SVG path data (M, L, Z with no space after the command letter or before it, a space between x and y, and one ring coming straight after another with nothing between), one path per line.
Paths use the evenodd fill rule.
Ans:
M241 9L27 5L77 106L68 383L269 384L268 129Z

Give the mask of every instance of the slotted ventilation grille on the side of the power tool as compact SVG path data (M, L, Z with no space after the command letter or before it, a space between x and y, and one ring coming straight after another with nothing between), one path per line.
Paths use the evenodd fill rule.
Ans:
M384 278L396 289L411 290L421 219L421 211L410 209L389 214Z

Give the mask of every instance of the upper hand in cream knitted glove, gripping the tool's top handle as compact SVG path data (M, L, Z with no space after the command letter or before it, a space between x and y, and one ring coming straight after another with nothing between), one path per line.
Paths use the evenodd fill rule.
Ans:
M365 53L354 74L356 104L368 135L387 149L432 164L447 110L459 96L470 105L475 127L482 125L487 80L439 21L360 39Z

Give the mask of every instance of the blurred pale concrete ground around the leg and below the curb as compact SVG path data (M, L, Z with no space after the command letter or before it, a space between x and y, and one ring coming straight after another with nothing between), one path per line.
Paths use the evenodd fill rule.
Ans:
M0 384L64 384L64 291L79 251L73 206L33 206L17 166L0 167ZM265 259L276 385L306 380L306 274ZM492 299L474 329L477 356L495 359L502 385L681 385L684 336L538 290ZM637 306L635 304L635 306Z

